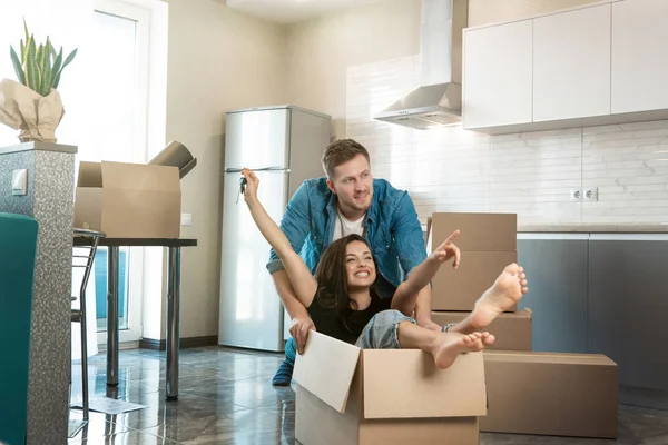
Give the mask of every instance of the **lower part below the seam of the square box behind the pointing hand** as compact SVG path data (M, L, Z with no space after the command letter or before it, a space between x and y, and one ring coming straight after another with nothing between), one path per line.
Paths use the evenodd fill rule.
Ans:
M494 284L505 266L518 261L512 251L462 251L455 270L451 264L441 266L432 279L433 310L472 310L478 298ZM518 310L513 305L508 312Z

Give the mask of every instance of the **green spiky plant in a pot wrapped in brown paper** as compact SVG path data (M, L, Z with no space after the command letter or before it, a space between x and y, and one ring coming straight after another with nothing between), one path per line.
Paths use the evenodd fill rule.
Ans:
M0 122L20 130L21 142L56 142L56 128L65 113L57 88L62 70L75 59L77 50L63 60L62 48L56 52L49 37L38 46L24 21L23 28L26 41L21 39L19 53L10 44L19 81L0 81Z

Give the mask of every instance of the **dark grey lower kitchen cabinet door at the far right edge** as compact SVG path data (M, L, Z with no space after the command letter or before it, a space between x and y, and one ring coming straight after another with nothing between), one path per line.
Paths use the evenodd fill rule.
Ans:
M668 392L666 265L668 235L589 240L588 349L617 362L620 385Z

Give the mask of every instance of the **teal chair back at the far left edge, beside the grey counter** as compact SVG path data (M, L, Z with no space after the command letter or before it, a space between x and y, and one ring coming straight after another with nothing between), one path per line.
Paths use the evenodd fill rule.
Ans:
M38 222L0 212L0 443L28 432L30 328Z

